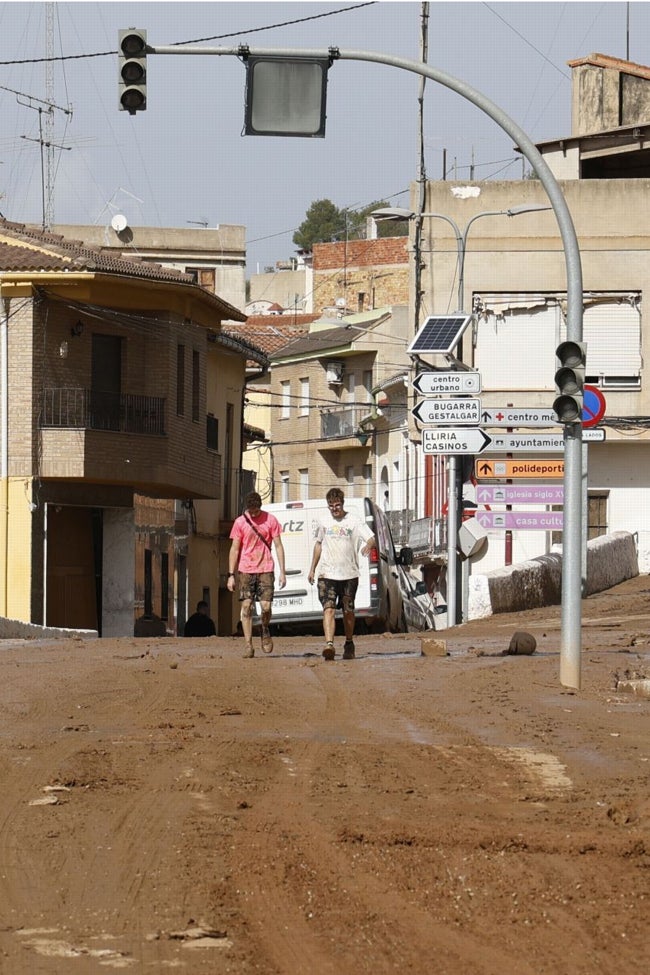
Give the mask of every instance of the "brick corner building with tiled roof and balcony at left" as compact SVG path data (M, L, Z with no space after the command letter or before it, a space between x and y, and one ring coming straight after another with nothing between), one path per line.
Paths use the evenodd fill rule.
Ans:
M231 632L219 570L246 362L266 362L222 332L244 316L184 273L4 221L0 297L0 613L119 636L142 609L175 632L207 585ZM176 502L216 505L195 573Z

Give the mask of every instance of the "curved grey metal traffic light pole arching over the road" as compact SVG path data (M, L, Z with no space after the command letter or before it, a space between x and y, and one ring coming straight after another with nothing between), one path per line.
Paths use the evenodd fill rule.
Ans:
M528 135L485 95L467 85L464 81L448 75L438 68L419 61L393 57L376 51L346 51L336 47L327 49L300 50L295 48L257 48L247 46L235 48L195 47L174 45L157 47L147 44L147 54L226 56L246 60L248 57L299 59L322 62L370 61L399 68L435 81L462 98L467 99L488 115L514 141L528 160L535 175L541 182L549 198L557 219L562 246L567 281L567 340L582 342L582 267L578 239L566 200L553 173ZM582 426L568 423L564 427L564 531L562 545L562 628L560 647L560 681L573 688L580 688L581 655L581 599L582 599Z

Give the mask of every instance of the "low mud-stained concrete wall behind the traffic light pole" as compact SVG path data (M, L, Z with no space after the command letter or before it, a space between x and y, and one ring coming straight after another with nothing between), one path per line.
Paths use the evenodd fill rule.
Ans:
M586 595L602 592L639 574L636 543L629 532L612 532L587 545ZM468 618L554 606L561 602L562 555L551 552L528 562L474 575L469 581Z

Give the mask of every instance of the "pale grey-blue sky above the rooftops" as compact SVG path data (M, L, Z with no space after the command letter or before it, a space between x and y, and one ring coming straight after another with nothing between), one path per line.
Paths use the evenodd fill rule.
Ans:
M117 37L138 27L154 46L338 47L417 61L423 6L0 3L0 213L41 223L43 135L52 144L44 159L54 223L108 227L119 213L132 226L242 225L249 274L295 254L293 234L315 200L408 207L418 167L418 75L335 61L324 139L244 136L246 77L237 56L149 55L147 110L130 116L118 109ZM429 64L489 98L534 142L570 133L567 61L593 52L648 58L647 2L428 8ZM57 59L49 68L48 54ZM47 101L56 106L51 113ZM467 99L428 81L423 114L428 178L440 179L445 162L456 181L468 180L472 166L475 179L521 178L511 138Z

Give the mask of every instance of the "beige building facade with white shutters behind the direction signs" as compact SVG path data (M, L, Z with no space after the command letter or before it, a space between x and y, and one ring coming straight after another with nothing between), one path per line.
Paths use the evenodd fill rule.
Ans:
M634 533L639 566L648 572L650 384L645 375L649 333L643 307L650 285L646 219L650 166L644 125L644 120L650 120L650 70L603 55L571 65L574 131L539 149L559 181L576 228L584 288L586 382L606 400L602 423L606 440L584 448L585 519L589 537L616 530ZM612 122L616 128L604 128ZM415 202L415 189L412 199ZM562 241L550 208L507 215L512 207L544 205L549 206L549 201L536 179L462 187L429 182L426 187L424 212L446 215L461 228L484 217L472 223L467 241L465 308L474 317L462 347L465 365L481 375L483 409L513 406L525 411L549 409L553 404L555 350L566 337ZM449 225L435 217L424 218L424 241L424 307L430 314L444 314L455 301L457 242ZM442 357L431 361L436 368L449 368ZM419 398L414 395L414 401ZM417 426L412 430L416 444L421 443ZM485 429L488 435L498 432ZM489 449L480 456L481 460L507 459L503 453L490 454ZM512 456L525 460L544 454ZM561 454L548 456L561 460ZM421 476L431 483L446 458L420 456L420 464ZM475 466L473 473L479 491L476 483L466 487L478 501L482 482ZM432 494L425 514L440 517L443 505L444 496ZM492 508L506 510L505 505ZM535 506L527 510L534 511ZM488 545L480 559L472 560L472 570L483 572L538 556L556 542L561 542L559 531L490 530Z

